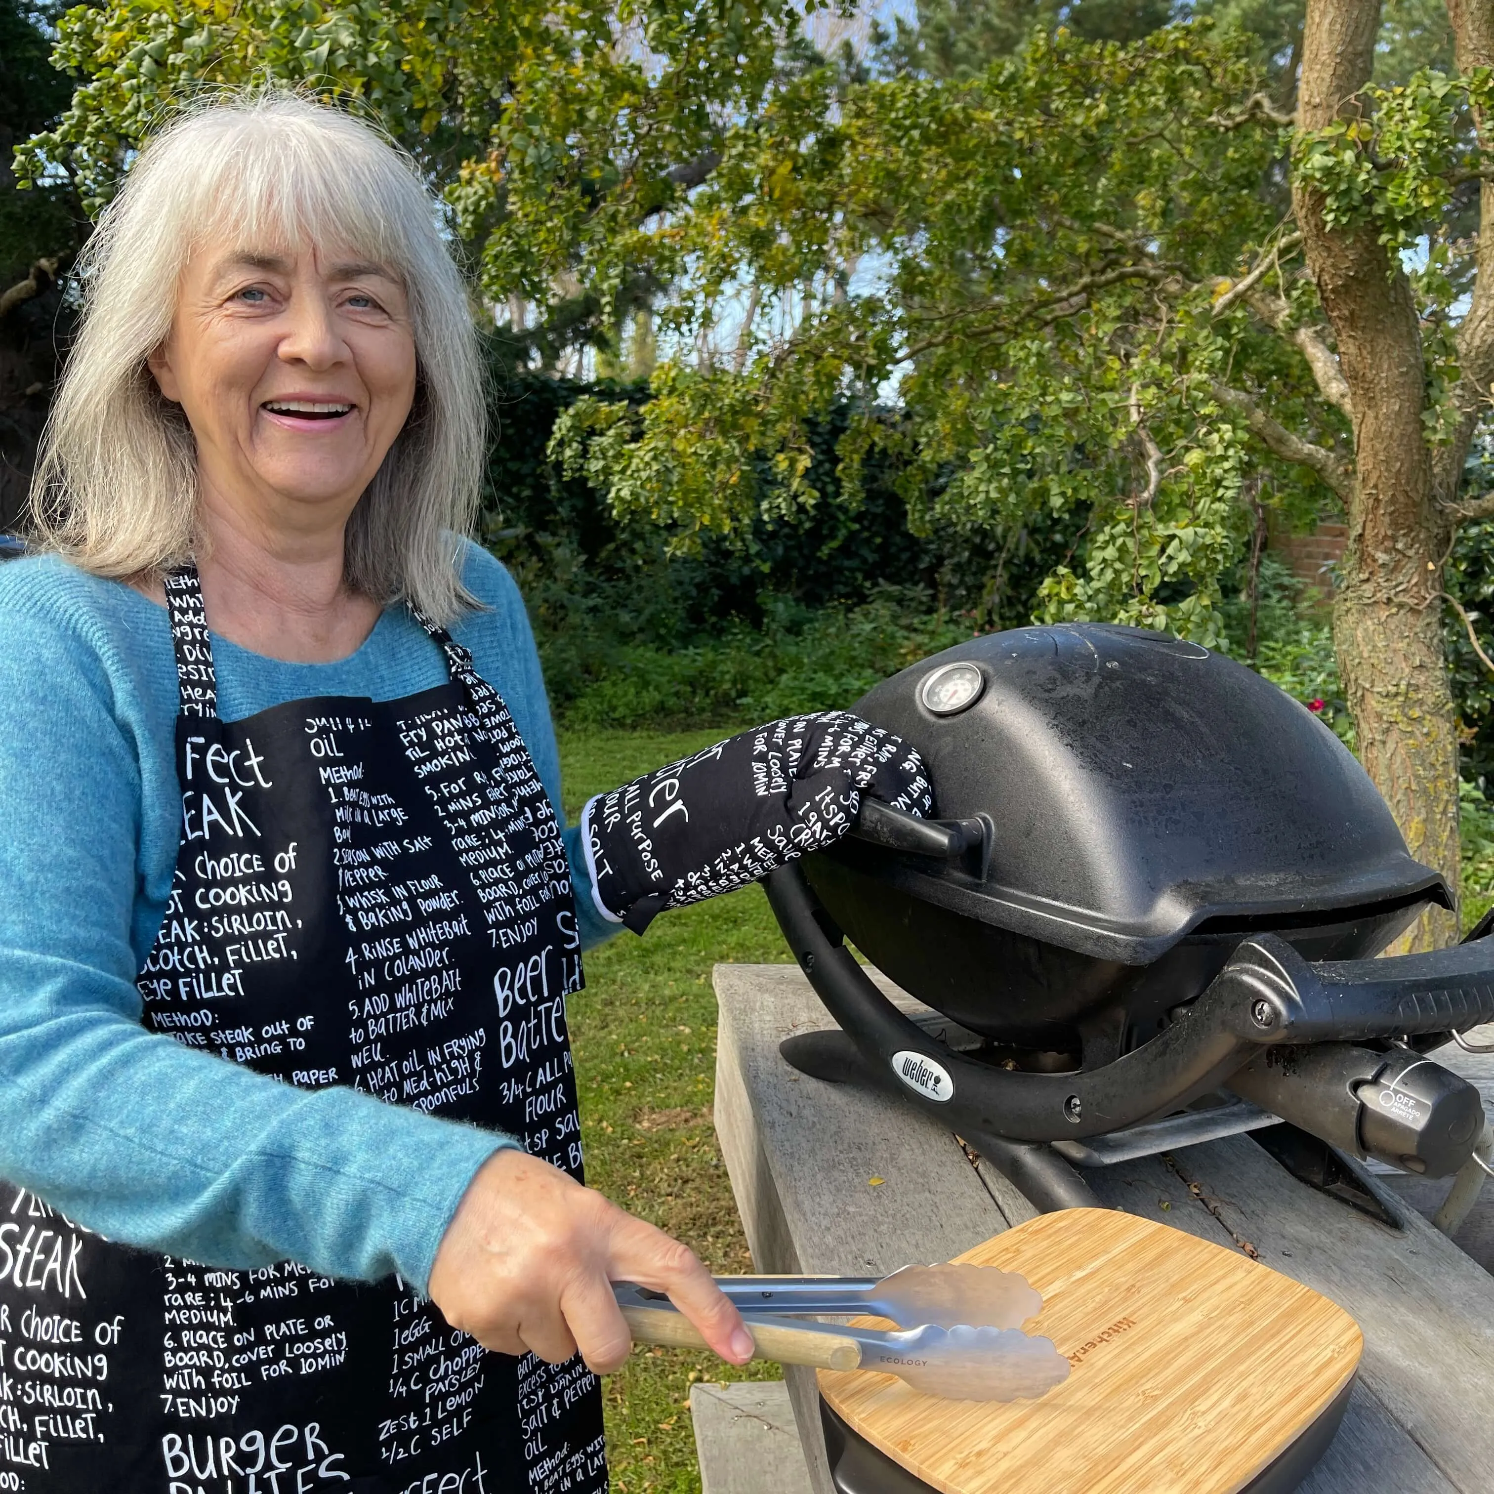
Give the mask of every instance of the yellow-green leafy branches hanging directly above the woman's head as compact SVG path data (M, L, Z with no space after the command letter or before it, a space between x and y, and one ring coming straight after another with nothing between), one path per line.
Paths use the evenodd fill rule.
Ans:
M626 235L699 184L731 121L799 66L817 6L105 0L60 18L54 61L81 81L16 169L69 173L96 212L182 102L255 82L311 88L375 117L421 163L484 293L512 306L511 329L545 362L578 344L617 356L622 321L656 287L629 266L583 284L580 247Z

